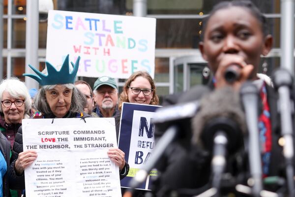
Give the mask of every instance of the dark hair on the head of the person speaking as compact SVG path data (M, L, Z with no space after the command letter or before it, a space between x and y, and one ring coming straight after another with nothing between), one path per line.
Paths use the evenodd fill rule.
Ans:
M261 11L256 7L256 5L253 4L250 0L233 0L233 1L221 1L220 3L214 5L212 10L210 11L209 15L204 18L203 20L203 26L202 26L202 34L201 39L204 39L204 33L207 28L207 22L211 18L212 15L218 10L226 9L229 7L245 7L247 10L250 11L250 13L257 18L258 21L261 23L261 30L266 36L268 34L268 24L266 21L266 17L261 13Z

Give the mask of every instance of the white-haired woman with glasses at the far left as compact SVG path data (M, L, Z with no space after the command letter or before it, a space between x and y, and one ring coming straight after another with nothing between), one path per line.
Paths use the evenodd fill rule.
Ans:
M22 120L29 118L31 99L29 90L18 78L4 79L0 83L0 130L13 147Z

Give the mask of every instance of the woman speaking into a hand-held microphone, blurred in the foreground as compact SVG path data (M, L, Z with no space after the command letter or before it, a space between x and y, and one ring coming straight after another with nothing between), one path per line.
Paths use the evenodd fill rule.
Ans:
M253 81L259 90L258 129L262 178L283 176L284 173L282 148L278 144L280 135L277 100L272 87L257 75L262 62L261 56L266 56L272 47L272 36L267 29L266 17L251 1L222 1L213 7L203 22L203 37L199 44L210 69L211 80L208 87L211 91L231 87L233 92L238 93L247 80ZM197 90L192 88L181 95L178 102L189 98L187 95L191 95L193 91L197 95L194 99L202 99L204 93ZM181 132L190 133L194 126L191 125L187 130ZM201 191L208 186L212 157L204 150L204 146L195 144L187 151L176 140L168 151L172 154L166 154L157 166L160 176L155 183L155 191L158 196L171 196L171 191L185 196L186 192L189 194L189 190ZM227 162L230 169L227 170L234 176L249 170L244 156L245 154L242 160L238 160L240 157L237 155L229 157ZM247 179L242 182L247 185ZM207 189L209 188L210 186ZM274 192L278 189L267 186L264 188Z

